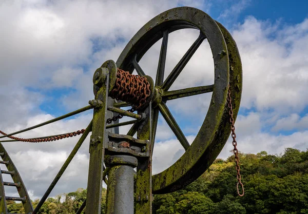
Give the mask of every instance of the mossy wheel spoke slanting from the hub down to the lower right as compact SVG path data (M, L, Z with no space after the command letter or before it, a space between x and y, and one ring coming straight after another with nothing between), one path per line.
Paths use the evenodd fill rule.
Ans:
M179 127L176 120L174 119L171 112L169 111L168 107L163 102L159 103L158 106L167 124L169 125L171 130L175 133L176 137L178 138L178 140L180 141L184 149L187 150L189 147L189 143L187 139L185 138L185 135L182 132L181 128Z

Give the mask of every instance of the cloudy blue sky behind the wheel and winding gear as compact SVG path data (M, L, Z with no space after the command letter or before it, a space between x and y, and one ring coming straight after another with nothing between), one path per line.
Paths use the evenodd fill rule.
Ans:
M92 76L106 60L117 61L130 38L151 18L178 6L196 7L233 35L243 65L243 91L235 123L245 153L308 148L308 2L253 0L1 1L0 130L13 132L87 106ZM166 73L199 32L169 34ZM155 76L161 40L140 61ZM214 82L213 56L204 41L171 89ZM211 94L167 105L189 143L205 118ZM29 132L20 138L85 128L92 110ZM123 121L127 119L123 118ZM129 127L120 130L125 133ZM78 137L49 143L3 143L32 200L42 197ZM50 196L86 188L89 140L82 145ZM219 158L231 155L230 139ZM153 173L178 160L184 149L160 116ZM2 169L6 169L1 166ZM4 180L12 182L10 176ZM6 187L7 195L17 196Z

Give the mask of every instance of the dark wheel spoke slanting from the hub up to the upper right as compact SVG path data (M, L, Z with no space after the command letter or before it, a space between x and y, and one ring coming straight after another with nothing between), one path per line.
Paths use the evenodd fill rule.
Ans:
M203 40L205 39L205 35L200 32L199 37L197 40L190 46L190 48L187 50L187 52L184 54L180 62L176 65L176 67L171 71L171 73L168 75L167 79L162 85L162 89L167 91L172 83L175 82L181 71L184 69L188 61L190 60L191 56L194 55L196 50L199 48Z

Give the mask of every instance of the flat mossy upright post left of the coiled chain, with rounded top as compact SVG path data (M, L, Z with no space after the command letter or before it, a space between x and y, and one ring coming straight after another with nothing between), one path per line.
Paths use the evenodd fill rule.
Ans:
M94 108L90 138L90 163L87 186L86 213L100 214L103 185L104 140L108 105L109 70L98 68L93 76L95 100L101 101Z

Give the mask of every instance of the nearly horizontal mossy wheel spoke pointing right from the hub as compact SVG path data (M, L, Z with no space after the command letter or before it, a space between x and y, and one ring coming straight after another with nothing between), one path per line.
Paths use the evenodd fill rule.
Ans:
M168 100L174 100L178 98L185 98L185 96L192 96L192 95L212 92L213 89L214 89L214 85L209 85L209 86L185 88L185 89L174 90L174 91L166 91L166 92L163 92L162 94L162 100L168 101Z

